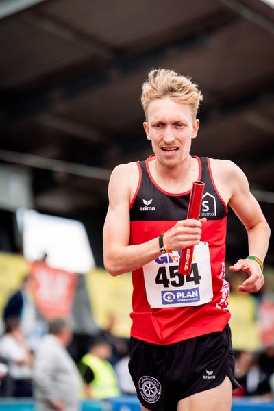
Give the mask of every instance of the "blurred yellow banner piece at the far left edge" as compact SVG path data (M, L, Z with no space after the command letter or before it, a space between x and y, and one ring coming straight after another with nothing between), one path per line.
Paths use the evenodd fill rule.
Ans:
M8 297L21 286L23 277L29 274L29 263L23 256L0 253L0 315Z

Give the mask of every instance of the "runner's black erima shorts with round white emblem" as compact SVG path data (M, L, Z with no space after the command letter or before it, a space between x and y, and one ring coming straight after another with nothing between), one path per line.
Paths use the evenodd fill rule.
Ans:
M140 403L151 411L176 411L180 399L219 386L226 376L239 388L234 368L229 325L170 345L130 339L129 371Z

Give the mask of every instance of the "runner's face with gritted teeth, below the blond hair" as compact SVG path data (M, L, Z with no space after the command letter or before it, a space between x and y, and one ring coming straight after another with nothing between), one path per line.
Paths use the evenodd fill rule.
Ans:
M144 128L158 161L166 166L177 166L188 158L199 120L192 121L190 105L164 97L149 103Z

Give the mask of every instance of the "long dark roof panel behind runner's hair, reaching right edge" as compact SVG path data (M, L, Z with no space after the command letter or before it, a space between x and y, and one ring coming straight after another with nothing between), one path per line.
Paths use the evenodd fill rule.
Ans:
M252 82L256 85L258 79L274 72L272 42L269 32L254 23L240 21L220 30L203 45L146 62L130 75L121 75L98 89L87 88L85 95L64 103L62 110L83 123L110 129L120 127L124 121L134 121L140 116L141 85L151 66L164 66L189 75L204 93L225 100L227 95L245 92L252 88ZM207 103L210 104L209 95L203 107Z

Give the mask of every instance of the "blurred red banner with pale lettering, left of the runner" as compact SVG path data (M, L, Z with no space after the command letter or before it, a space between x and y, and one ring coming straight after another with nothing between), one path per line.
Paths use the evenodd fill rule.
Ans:
M45 262L34 262L30 272L34 279L34 301L42 316L47 320L70 316L77 275L53 269Z

